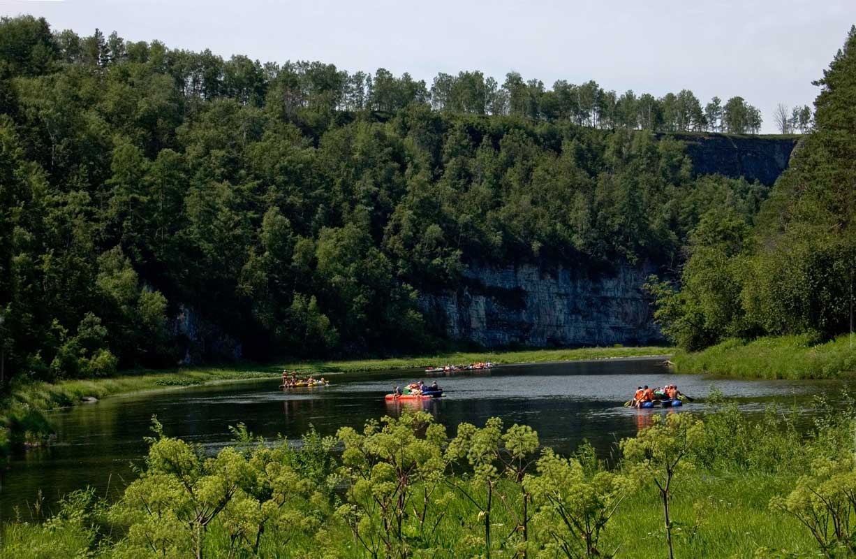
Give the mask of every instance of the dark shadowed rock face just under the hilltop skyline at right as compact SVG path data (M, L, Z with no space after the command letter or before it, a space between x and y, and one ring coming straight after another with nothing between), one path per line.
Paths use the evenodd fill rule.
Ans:
M731 134L674 134L687 144L696 175L742 176L772 185L788 168L799 138L767 138Z

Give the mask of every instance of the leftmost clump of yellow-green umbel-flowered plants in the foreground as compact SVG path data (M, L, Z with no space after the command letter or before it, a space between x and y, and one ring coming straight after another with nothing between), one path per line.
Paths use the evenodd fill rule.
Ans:
M146 470L110 511L111 520L128 526L117 545L122 556L202 557L215 520L228 535L217 556L257 555L269 526L286 534L318 529L311 503L316 488L288 466L282 445L268 449L259 442L240 452L250 441L241 428L238 449L207 458L184 441L164 437L157 419L154 430Z

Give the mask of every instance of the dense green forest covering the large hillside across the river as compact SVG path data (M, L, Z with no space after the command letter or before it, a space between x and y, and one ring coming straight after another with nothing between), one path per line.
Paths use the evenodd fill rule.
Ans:
M0 108L4 378L175 364L181 308L253 359L431 348L419 292L468 263L670 267L710 209L751 223L767 196L655 136L758 129L741 98L686 90L429 88L25 16L0 22Z

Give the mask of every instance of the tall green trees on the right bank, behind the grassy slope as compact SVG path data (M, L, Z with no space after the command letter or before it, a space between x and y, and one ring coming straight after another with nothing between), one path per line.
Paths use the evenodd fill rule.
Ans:
M755 223L727 207L704 215L680 288L652 286L664 331L685 348L764 335L814 344L853 328L856 27L815 83L815 131Z

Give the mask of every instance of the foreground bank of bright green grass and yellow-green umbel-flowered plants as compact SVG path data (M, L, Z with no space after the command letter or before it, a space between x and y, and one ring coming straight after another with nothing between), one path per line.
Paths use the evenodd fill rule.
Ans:
M770 408L656 415L616 446L563 457L525 425L430 414L371 420L300 444L241 425L216 454L157 420L140 478L116 503L77 491L56 514L3 526L3 554L96 557L848 557L853 428L847 401L801 432Z

